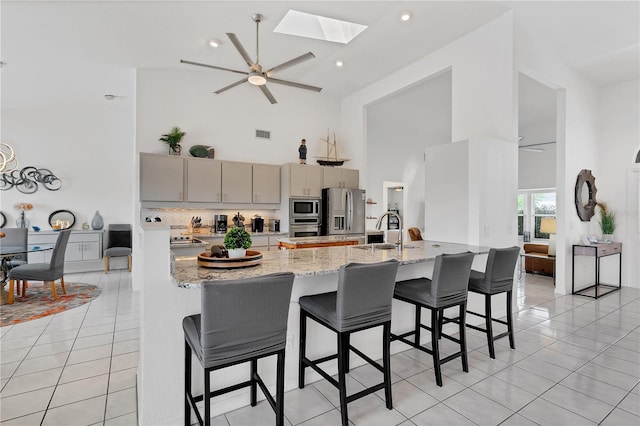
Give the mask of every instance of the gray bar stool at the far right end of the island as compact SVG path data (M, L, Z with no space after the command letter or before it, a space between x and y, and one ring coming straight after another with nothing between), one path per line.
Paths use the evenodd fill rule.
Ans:
M513 335L513 318L511 312L511 292L513 290L513 274L518 262L520 247L513 246L502 249L491 249L487 258L485 272L471 270L469 277L469 291L484 295L484 315L472 311L467 313L485 319L485 328L467 324L467 327L482 331L487 334L487 345L489 346L489 356L496 357L493 342L505 336L509 336L511 349L516 348ZM491 317L491 296L494 294L507 294L507 320L502 321ZM507 326L507 331L497 336L493 335L492 321Z

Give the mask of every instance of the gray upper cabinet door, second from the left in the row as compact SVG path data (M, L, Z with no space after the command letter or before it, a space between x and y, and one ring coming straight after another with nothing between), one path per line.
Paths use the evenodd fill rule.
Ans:
M187 159L186 201L222 201L222 161L206 158Z

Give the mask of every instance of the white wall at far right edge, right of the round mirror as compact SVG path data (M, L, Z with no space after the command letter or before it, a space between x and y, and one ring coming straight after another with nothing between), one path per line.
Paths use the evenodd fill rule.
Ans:
M598 201L616 212L615 240L622 242L622 282L640 287L640 224L638 174L635 158L640 150L640 80L603 87L599 96L600 131L598 164L593 170ZM591 219L590 232L600 235L599 209Z

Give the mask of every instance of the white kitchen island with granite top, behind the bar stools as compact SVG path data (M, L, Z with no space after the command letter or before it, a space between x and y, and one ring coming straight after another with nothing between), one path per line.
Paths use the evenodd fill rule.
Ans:
M207 280L224 280L259 276L279 271L291 271L296 277L289 306L287 324L287 348L285 362L285 389L297 386L299 308L298 299L308 294L335 291L338 270L349 262L375 263L397 259L398 280L420 276L430 276L433 260L438 254L472 251L476 256L474 267L484 269L485 253L488 248L433 241L412 242L403 250L382 249L381 246L340 246L301 250L279 250L264 252L262 263L248 268L218 270L197 265L196 257L176 258L169 261L168 229L144 229L144 288L142 291L141 350L139 372L139 414L140 424L161 425L180 424L182 421L184 396L184 338L182 318L201 312L200 285ZM165 248L162 249L162 242ZM170 267L170 264L172 265ZM170 271L172 273L170 273ZM470 295L470 309L483 306L483 299L473 299ZM497 304L496 304L497 305ZM497 316L503 313L496 312ZM395 301L392 311L392 330L406 331L412 327L414 310L407 304ZM307 353L314 356L329 354L335 348L335 336L316 324L308 325L308 332L314 336L308 342ZM427 333L425 333L427 334ZM428 337L428 336L427 336ZM353 343L374 359L380 358L380 331L367 330L353 336ZM426 340L425 340L426 341ZM401 342L393 342L391 351L397 353L408 347ZM194 371L200 371L194 358ZM363 361L352 356L355 368ZM329 365L327 370L335 374L337 367ZM335 370L335 371L334 371ZM267 386L275 384L275 362L260 363L261 375ZM244 380L248 377L248 365L238 365L216 372L212 383L219 388ZM308 382L319 379L315 372L307 373ZM194 387L202 386L201 375L194 375ZM259 397L262 395L259 393ZM286 405L285 401L285 405ZM212 416L249 404L249 390L215 398Z

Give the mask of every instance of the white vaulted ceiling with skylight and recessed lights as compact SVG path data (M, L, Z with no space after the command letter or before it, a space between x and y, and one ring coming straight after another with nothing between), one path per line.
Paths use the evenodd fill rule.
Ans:
M211 89L238 74L179 64L179 59L237 70L246 65L226 37L255 55L253 13L264 15L260 59L271 68L312 51L316 58L274 77L323 87L343 97L513 10L516 25L539 34L567 64L598 85L638 78L640 3L499 1L30 1L2 0L5 67L132 66L206 72ZM350 44L273 33L289 9L367 25ZM400 13L413 17L401 22ZM217 49L207 41L217 38ZM337 68L336 60L344 66ZM272 88L274 93L277 88ZM277 97L277 94L276 94Z

